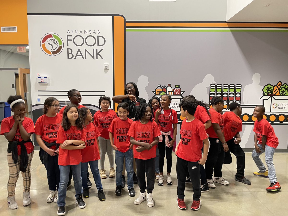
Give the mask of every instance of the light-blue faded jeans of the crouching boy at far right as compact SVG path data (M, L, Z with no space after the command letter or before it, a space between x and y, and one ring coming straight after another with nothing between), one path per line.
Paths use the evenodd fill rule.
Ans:
M263 164L262 160L259 158L259 156L265 152L265 162L268 166L268 177L269 177L270 183L274 183L277 181L275 166L273 164L273 155L275 152L275 148L266 145L265 151L264 151L262 149L261 144L258 144L258 147L260 148L261 152L257 153L256 150L254 149L252 152L252 158L255 161L255 164L257 165L258 169L262 173L264 173L264 172L266 172L266 167Z

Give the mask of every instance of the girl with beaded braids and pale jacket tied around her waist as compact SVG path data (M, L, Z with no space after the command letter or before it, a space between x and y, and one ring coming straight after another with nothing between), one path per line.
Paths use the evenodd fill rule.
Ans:
M163 186L164 176L163 176L163 167L164 167L164 158L166 156L167 163L167 185L172 185L171 178L171 168L172 168L172 150L173 144L177 135L177 123L178 117L177 112L174 109L171 109L172 98L168 94L163 94L161 96L160 105L161 108L155 112L155 122L158 124L161 131L159 137L158 149L159 149L159 171L160 177L158 179L158 185ZM171 130L173 128L173 135Z

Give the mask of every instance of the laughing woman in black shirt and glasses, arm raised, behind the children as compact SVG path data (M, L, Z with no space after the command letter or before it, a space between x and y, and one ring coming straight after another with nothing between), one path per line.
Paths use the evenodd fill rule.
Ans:
M139 105L141 103L146 103L146 100L143 98L139 98L139 91L137 88L137 85L134 82L128 82L124 89L124 95L116 95L112 97L112 100L115 103L128 103L129 105L129 115L127 116L130 119L134 120L136 110L138 109ZM133 160L133 168L134 168L134 174L133 174L133 181L134 184L138 183L138 179L136 176L136 162L135 159ZM124 166L123 166L123 172L122 172L122 188L125 187L125 160L124 160Z

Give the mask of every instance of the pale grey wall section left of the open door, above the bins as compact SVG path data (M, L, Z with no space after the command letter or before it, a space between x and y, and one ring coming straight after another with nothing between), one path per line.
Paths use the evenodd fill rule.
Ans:
M15 72L17 71L1 71L0 70L0 101L7 101L10 95L16 94L16 88L12 88L12 84L15 86Z

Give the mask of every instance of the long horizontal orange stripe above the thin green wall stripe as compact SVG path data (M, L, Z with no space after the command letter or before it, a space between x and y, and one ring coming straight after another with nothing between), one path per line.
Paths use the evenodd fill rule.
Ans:
M160 22L126 22L126 27L285 27L287 23L160 23Z

